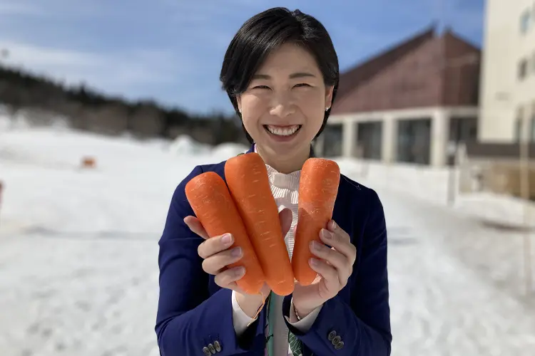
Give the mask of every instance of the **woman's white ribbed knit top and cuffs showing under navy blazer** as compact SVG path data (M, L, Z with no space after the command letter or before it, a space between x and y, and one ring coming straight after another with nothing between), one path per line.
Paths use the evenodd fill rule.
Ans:
M271 184L271 192L279 211L283 208L289 208L292 211L292 227L290 231L285 236L285 243L287 247L288 254L292 258L292 251L294 246L294 229L297 224L297 206L298 206L298 194L299 194L299 179L301 171L292 172L290 174L283 174L277 172L275 169L266 164L267 174L269 175L269 180ZM282 300L284 297L280 295L272 295L275 297L275 308L280 310L280 313L276 313L277 317L275 320L270 320L270 323L273 323L273 356L287 356L292 355L290 347L288 345L288 328L285 324L284 316L282 315ZM235 293L233 292L233 323L236 335L242 334L250 322L253 321L247 314L241 310L240 305L236 302ZM320 313L321 308L317 308L312 313L307 315L305 318L297 321L295 318L293 303L290 308L290 318L288 321L295 326L298 330L306 333L310 329L312 324L317 318L317 315Z

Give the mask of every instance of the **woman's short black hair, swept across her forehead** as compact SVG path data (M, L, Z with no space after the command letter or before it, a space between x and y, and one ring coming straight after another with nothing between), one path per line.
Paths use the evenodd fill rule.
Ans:
M325 27L314 17L299 10L275 7L248 19L235 34L225 53L220 80L241 119L236 96L247 89L251 78L271 51L283 43L297 43L309 51L322 72L325 85L333 85L332 102L340 80L338 57ZM325 112L318 137L327 125L330 109ZM242 121L243 126L243 121ZM245 135L250 137L245 126Z

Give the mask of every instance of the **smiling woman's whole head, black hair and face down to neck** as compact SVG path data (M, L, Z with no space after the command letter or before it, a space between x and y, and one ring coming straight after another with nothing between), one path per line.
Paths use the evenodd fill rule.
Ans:
M230 42L220 80L248 140L267 164L292 172L327 123L339 70L322 24L300 11L283 11L244 23Z

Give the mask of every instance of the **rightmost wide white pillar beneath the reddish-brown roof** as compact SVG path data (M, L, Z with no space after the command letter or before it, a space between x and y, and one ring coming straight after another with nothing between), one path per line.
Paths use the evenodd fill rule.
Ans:
M432 167L444 167L447 163L447 143L449 140L449 113L443 109L434 111L431 119Z

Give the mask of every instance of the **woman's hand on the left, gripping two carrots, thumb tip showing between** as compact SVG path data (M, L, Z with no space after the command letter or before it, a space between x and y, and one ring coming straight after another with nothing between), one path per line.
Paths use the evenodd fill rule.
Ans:
M282 239L290 230L292 224L292 211L282 209L279 212L279 219L282 225ZM195 216L186 216L184 222L191 231L205 239L198 247L198 255L203 258L203 271L214 277L215 283L221 288L227 288L236 292L236 300L240 308L251 318L256 314L258 308L263 304L263 300L270 293L270 288L264 284L260 293L262 295L250 295L245 293L236 283L245 275L245 268L237 266L227 268L230 263L240 261L243 257L241 248L230 248L234 239L230 234L214 236L210 238L206 233L203 224Z

